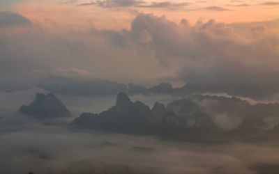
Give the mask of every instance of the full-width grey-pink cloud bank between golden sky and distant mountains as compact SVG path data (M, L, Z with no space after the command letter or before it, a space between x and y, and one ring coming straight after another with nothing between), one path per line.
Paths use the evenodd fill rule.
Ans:
M32 29L17 37L1 35L0 80L22 85L36 84L44 79L40 76L94 76L155 84L168 77L193 84L195 92L268 97L279 86L276 27L278 20L190 24L182 19L177 24L139 14L130 29L120 31L93 28L90 33L56 35Z

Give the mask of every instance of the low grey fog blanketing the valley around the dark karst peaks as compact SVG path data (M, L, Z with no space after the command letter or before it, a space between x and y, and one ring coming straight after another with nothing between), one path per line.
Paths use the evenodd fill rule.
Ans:
M80 113L112 106L111 97L59 99L73 118L39 121L16 113L40 89L1 93L0 173L279 173L279 141L259 143L191 143L80 131L66 123ZM176 97L136 95L150 106Z

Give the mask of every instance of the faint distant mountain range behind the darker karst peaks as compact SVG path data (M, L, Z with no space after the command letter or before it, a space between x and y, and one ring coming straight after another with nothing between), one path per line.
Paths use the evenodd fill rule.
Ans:
M200 84L187 83L180 88L174 88L172 84L160 83L157 86L149 88L129 83L121 84L115 81L107 81L105 79L93 79L91 81L68 82L55 84L38 84L38 87L44 88L55 94L64 95L117 95L119 91L135 94L171 94L171 95L189 95L195 93L227 93L229 95L237 95L241 97L251 97L254 99L263 99L273 91L266 90L266 86L253 88L246 84Z

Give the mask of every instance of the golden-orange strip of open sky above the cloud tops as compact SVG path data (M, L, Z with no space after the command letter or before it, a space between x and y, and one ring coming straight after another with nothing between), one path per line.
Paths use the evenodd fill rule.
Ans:
M173 22L180 22L185 18L191 24L197 22L198 19L216 19L218 22L225 23L279 19L279 1L276 0L148 0L140 5L118 6L113 3L112 6L105 7L96 4L89 5L92 2L94 1L26 0L12 4L6 3L6 6L4 3L2 8L10 8L36 22L48 22L78 29L92 25L105 29L128 28L131 19L137 13L165 15ZM87 6L80 6L84 3L87 3ZM152 4L157 4L157 6L152 6Z

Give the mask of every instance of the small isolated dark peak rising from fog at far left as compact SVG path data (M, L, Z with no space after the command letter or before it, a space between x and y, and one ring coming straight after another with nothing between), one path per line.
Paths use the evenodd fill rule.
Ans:
M34 118L56 118L70 116L70 111L52 93L47 95L37 93L36 98L28 106L23 105L19 109L20 113Z

